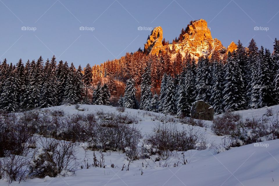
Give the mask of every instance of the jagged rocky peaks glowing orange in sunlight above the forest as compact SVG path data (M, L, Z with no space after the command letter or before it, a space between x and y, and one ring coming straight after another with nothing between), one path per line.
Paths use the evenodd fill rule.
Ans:
M150 54L158 55L161 52L167 52L172 50L172 44L163 46L163 31L160 26L154 28L149 39L144 45L144 50ZM186 53L190 53L192 57L198 58L208 54L208 50L212 53L214 50L219 51L222 57L226 54L226 47L217 38L212 38L210 28L207 26L207 22L203 19L192 22L187 27L187 30L182 35L178 43L175 43L175 53L180 52L182 56ZM228 48L230 51L236 50L237 45L232 42ZM173 56L176 54L172 54ZM211 56L211 55L210 55ZM210 57L209 56L209 57Z

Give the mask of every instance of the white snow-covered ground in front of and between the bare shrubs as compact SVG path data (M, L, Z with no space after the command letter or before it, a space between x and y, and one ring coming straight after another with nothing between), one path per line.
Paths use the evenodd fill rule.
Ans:
M119 113L116 108L103 105L81 105L84 111L78 111L74 105L46 108L49 110L64 110L65 114L103 112ZM270 107L276 117L279 105ZM43 109L45 110L45 109ZM267 108L238 111L243 118L261 118ZM156 122L155 117L163 114L142 110L126 109L122 114L137 116L138 128L142 134L150 133ZM169 116L173 117L173 116ZM217 116L215 116L217 117ZM155 121L154 121L155 120ZM196 130L205 134L208 142L219 145L222 136L216 136L210 129L211 121L204 121L207 128L194 126ZM185 124L177 123L182 129ZM80 169L74 176L35 178L21 182L22 186L58 186L58 185L279 185L279 140L261 142L258 145L249 144L216 154L214 149L202 151L189 150L184 153L187 164L183 165L182 152L176 152L167 160L155 161L140 159L130 162L121 152L107 151L104 154L106 168ZM93 162L93 151L88 150L88 163ZM95 151L97 158L101 152ZM83 154L79 154L83 156ZM111 164L115 167L111 168ZM165 165L165 166L164 166ZM178 165L178 166L177 166ZM129 168L128 168L129 166ZM124 167L124 168L123 168ZM7 182L0 180L0 185ZM12 182L12 185L18 185Z

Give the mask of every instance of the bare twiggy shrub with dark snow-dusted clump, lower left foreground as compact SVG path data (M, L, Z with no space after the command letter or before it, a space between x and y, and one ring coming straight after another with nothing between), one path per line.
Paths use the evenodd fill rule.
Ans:
M55 177L58 174L65 176L67 172L74 173L86 157L77 157L83 147L71 141L38 137L38 143L42 149L30 166L32 177Z

